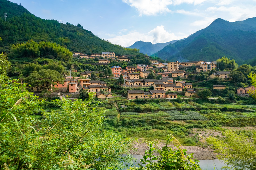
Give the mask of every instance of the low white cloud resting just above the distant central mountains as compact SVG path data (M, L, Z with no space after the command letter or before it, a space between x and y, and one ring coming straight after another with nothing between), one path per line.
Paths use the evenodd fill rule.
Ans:
M158 43L158 42L168 42L172 40L179 40L182 38L188 37L188 35L185 35L183 33L179 33L181 36L176 36L174 33L168 33L164 26L157 26L153 30L149 31L148 33L139 33L137 31L132 31L125 35L118 35L114 38L109 38L108 41L110 41L113 44L119 44L124 47L131 46L136 41L145 41L145 42L151 42L152 44Z

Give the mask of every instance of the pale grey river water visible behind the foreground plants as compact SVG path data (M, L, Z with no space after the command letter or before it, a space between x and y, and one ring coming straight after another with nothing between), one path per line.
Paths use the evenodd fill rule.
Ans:
M132 155L137 161L133 163L133 166L140 163L140 159L143 158L142 155ZM220 170L222 166L225 166L224 162L219 159L214 160L199 160L199 165L203 170ZM128 167L130 164L128 164ZM214 169L215 168L215 169Z

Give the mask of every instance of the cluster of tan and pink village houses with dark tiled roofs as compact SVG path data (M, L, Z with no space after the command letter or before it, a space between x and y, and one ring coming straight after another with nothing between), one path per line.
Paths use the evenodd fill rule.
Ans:
M74 57L80 56L81 58L95 59L99 58L99 63L110 63L111 60L129 62L131 59L128 56L116 56L114 52L102 52L100 54L87 55L80 52L74 52ZM103 59L102 59L103 57ZM101 59L100 59L101 58ZM180 70L182 67L196 66L196 72L211 71L217 68L216 61L204 62L204 61L191 61L191 62L170 62L162 63L155 59L150 59L150 65L137 64L136 66L126 66L121 68L120 66L112 66L113 77L119 78L121 75L124 78L124 87L150 87L153 86L154 90L148 90L144 92L142 90L128 90L128 99L149 99L149 98L177 98L177 93L185 90L186 97L192 97L196 95L196 91L193 88L192 83L186 83L186 81L175 81L173 78L180 76L185 78L188 76L184 70ZM156 71L157 69L157 71ZM161 70L161 71L160 71ZM72 71L77 72L76 69ZM112 97L111 88L109 88L104 81L91 80L92 73L99 75L99 71L84 71L80 73L81 77L66 77L64 83L55 82L54 88L57 92L77 92L80 89L88 90L88 92L95 92L98 98ZM156 75L161 75L162 79L146 79L148 75L154 72ZM217 71L210 75L210 78L223 78L230 80L229 71ZM23 82L22 79L20 79ZM53 87L52 86L52 87ZM225 89L226 85L213 85L213 89ZM36 90L36 89L34 89ZM48 90L52 90L49 88ZM237 89L237 94L248 94L249 91L255 90L255 87L240 87ZM166 94L166 92L168 94Z

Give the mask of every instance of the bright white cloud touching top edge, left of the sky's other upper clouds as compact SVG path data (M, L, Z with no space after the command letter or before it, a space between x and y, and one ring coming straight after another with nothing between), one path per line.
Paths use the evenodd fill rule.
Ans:
M122 0L139 11L139 15L156 15L158 13L172 12L167 6L172 0Z

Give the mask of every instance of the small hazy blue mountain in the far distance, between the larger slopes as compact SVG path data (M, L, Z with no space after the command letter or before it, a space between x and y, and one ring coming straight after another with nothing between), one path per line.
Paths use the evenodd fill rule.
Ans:
M140 49L140 52L143 54L152 55L156 53L157 51L160 51L165 46L172 44L178 40L173 40L165 43L156 43L152 44L151 42L144 42L144 41L136 41L134 44L132 44L130 47L127 48L137 48Z

